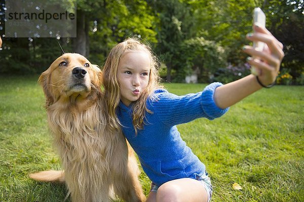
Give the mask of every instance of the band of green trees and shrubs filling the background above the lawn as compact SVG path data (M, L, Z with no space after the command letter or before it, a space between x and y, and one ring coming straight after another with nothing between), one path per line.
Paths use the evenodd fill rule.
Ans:
M34 1L33 1L34 2ZM58 2L48 1L46 4ZM5 37L4 0L0 0L0 73L41 73L60 54L55 38ZM67 10L74 9L75 0L62 1ZM38 4L38 3L37 3ZM39 3L41 4L41 3ZM237 66L245 62L242 46L251 44L245 38L252 31L252 10L260 7L267 17L267 28L284 45L282 68L289 69L291 84L302 84L304 71L302 1L264 0L79 0L78 17L84 16L85 35L78 38L61 38L65 52L75 51L75 45L86 41L88 58L102 66L109 51L130 36L138 36L153 46L167 67L167 80L182 82L185 75L198 66L203 69L201 81L222 62ZM204 38L209 45L188 49L188 43ZM73 44L73 46L72 46ZM209 47L206 49L206 46ZM222 50L218 50L222 47ZM203 50L206 49L206 50ZM210 52L210 53L209 53ZM216 54L219 53L218 62ZM207 72L208 71L208 72ZM172 75L171 75L172 74Z

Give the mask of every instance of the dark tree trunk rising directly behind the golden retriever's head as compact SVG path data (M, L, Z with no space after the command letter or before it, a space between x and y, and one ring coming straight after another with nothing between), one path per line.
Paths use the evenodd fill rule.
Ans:
M77 37L73 38L73 52L79 53L85 57L89 56L89 32L86 14L77 11Z

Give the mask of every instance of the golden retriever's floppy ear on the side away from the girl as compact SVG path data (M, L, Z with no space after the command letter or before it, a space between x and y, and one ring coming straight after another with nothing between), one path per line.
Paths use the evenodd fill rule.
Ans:
M50 69L47 69L39 76L38 79L38 83L42 86L43 92L46 97L45 108L49 108L49 106L54 103L54 97L52 96L50 87L48 87L50 83L50 77Z

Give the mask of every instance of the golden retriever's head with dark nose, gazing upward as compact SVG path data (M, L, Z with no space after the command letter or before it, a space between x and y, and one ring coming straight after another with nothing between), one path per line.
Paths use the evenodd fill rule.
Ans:
M100 92L101 70L87 58L76 53L65 53L57 58L39 77L46 108L57 101L85 100Z

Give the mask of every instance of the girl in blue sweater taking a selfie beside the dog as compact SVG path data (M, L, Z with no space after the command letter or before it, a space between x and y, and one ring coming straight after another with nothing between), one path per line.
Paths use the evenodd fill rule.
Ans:
M214 119L228 107L273 84L284 57L283 45L265 28L254 26L250 41L267 44L263 51L244 52L258 76L233 83L213 83L202 92L176 96L159 85L151 49L133 38L114 47L103 68L108 126L123 130L152 181L147 201L210 201L212 186L205 165L186 146L176 125L195 118Z

